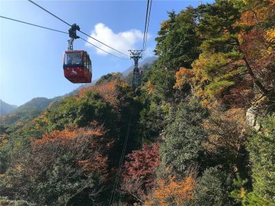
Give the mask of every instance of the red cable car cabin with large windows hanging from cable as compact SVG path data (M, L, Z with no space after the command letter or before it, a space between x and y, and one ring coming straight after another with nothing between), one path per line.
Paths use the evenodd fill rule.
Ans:
M89 54L81 50L65 51L63 71L70 82L90 83L92 73Z

